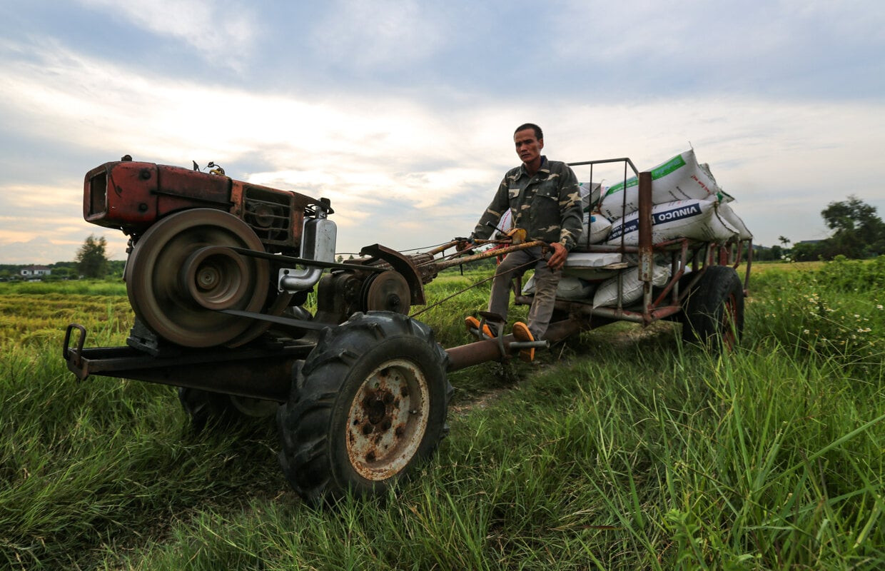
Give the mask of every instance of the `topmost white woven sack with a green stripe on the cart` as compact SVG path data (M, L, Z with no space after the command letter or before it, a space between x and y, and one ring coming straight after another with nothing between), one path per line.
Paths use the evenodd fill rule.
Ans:
M626 189L626 190L625 190ZM627 203L624 204L626 195ZM716 184L707 165L698 165L690 149L651 169L651 204L677 200L734 200ZM612 184L603 197L600 210L610 220L639 209L639 181L636 177Z

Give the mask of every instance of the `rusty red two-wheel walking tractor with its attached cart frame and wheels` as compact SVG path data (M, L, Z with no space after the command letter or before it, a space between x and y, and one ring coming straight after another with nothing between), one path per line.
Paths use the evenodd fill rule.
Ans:
M474 332L478 341L443 349L431 328L408 316L426 303L424 286L446 267L537 243L504 240L472 255L446 255L455 241L413 255L374 244L336 263L325 199L196 165L105 163L86 175L83 214L130 238L124 280L135 324L126 346L96 348L84 347L85 329L71 324L64 359L81 380L97 374L177 387L197 427L275 413L282 469L312 502L380 493L445 436L450 371L615 320L681 320L692 336L735 342L743 243L651 243L651 181L643 173L639 182L639 246L598 246L637 257L639 302L595 308L558 300L544 341ZM664 287L651 284L653 256L671 260ZM530 304L519 281L514 286L516 303ZM313 312L304 306L312 291Z

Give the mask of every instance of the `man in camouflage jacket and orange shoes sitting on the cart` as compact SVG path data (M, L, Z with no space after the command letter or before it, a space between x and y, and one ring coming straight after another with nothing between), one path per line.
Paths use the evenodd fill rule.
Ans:
M516 275L535 269L535 301L528 312L528 324L513 324L513 336L519 341L543 339L550 325L556 303L556 290L566 256L581 237L581 193L578 180L566 163L549 160L541 154L544 148L541 127L526 123L513 134L516 154L522 164L504 174L495 197L482 214L470 240L491 235L504 212L511 211L513 228L524 228L527 240L550 244L550 258L544 258L541 246L512 251L497 266L489 298L489 313L503 322L489 322L486 336L496 336L507 320L510 306L510 282ZM479 329L473 316L466 318L468 329ZM524 359L534 358L535 350L523 352Z

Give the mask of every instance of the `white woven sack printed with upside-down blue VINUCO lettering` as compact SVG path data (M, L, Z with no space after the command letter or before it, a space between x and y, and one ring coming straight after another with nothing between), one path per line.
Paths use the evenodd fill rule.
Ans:
M717 214L719 203L709 200L680 200L658 204L651 209L651 242L659 243L673 238L691 238L704 242L727 242L735 239L738 229ZM639 212L634 212L612 225L606 242L609 245L639 244Z

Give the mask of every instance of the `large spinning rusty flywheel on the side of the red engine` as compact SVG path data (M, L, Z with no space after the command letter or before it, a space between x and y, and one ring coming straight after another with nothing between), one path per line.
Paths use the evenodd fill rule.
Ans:
M170 214L135 244L126 266L129 303L156 333L186 347L223 345L250 320L214 310L261 312L268 293L266 260L231 247L264 251L245 222L211 208Z

